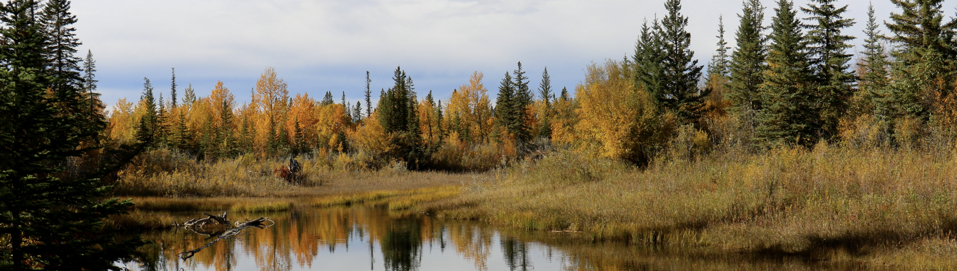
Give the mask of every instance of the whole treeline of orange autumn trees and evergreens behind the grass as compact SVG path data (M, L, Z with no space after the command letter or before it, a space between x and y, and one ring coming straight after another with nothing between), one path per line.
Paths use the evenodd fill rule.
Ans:
M476 72L439 100L415 91L396 68L389 89L365 101L288 93L275 70L256 81L251 102L237 104L218 82L208 97L191 87L177 101L154 98L146 79L139 102L121 100L109 117L109 137L132 142L155 136L155 147L199 159L348 154L358 167L406 163L410 169L489 169L535 151L561 146L647 164L661 150L693 156L716 146L751 150L843 142L866 147L949 144L955 134L955 23L943 1L892 0L881 33L868 7L863 50L849 52L857 22L848 6L813 0L805 7L747 0L707 66L689 49L691 34L679 0L661 18L645 20L634 55L593 63L585 80L554 90L547 69L534 86L522 63L487 94ZM367 75L368 76L368 75Z

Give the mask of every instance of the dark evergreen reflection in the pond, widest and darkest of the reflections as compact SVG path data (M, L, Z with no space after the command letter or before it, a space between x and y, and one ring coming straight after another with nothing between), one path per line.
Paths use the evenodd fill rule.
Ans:
M407 216L389 221L382 237L382 260L386 270L408 271L418 269L422 249L422 224L418 217Z

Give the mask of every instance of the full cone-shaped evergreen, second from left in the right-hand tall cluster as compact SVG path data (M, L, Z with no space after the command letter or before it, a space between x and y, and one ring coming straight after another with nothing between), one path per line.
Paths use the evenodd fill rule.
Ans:
M804 52L801 25L792 2L778 1L771 18L768 69L761 84L762 104L755 137L765 147L817 143L817 111L812 71Z

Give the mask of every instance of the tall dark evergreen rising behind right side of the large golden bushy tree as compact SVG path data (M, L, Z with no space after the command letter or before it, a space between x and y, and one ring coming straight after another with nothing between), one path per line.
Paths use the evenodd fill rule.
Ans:
M694 122L701 115L702 99L710 90L700 91L701 68L694 59L691 34L685 31L688 18L680 13L680 0L665 1L668 11L661 18L657 36L660 40L661 85L653 88L652 97L662 109L674 112L682 123Z

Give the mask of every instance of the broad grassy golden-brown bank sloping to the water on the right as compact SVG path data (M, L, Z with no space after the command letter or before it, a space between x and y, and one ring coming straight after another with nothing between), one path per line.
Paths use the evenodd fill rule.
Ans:
M634 169L558 152L420 208L599 239L811 258L890 259L927 243L957 247L951 153L818 146L657 161Z

